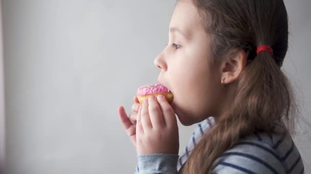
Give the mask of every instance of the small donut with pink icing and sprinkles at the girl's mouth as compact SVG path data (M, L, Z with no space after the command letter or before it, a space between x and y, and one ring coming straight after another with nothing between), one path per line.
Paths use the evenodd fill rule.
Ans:
M173 94L162 84L147 84L141 86L136 93L136 97L138 98L139 103L143 103L145 99L148 97L154 96L157 97L159 95L163 95L169 104L172 103L174 96Z

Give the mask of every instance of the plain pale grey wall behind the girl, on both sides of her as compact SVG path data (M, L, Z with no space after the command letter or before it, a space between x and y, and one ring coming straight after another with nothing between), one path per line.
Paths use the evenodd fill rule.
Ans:
M285 3L291 37L283 70L310 122L311 1ZM2 1L6 173L134 173L136 152L117 107L129 111L137 88L157 82L153 59L167 43L174 4ZM180 152L193 128L180 126ZM305 173L310 141L299 126Z

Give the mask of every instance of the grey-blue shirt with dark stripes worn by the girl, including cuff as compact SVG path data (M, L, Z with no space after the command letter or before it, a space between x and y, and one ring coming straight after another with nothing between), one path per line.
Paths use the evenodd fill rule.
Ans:
M178 173L201 137L212 127L212 117L199 123L182 155L139 155L136 173ZM273 126L280 134L254 133L221 154L212 173L304 173L303 162L285 126Z

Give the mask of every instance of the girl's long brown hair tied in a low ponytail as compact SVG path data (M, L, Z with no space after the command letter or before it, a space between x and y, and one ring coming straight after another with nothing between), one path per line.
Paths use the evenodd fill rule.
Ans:
M243 49L248 63L237 80L229 113L197 143L181 173L211 173L217 157L254 132L272 132L274 122L294 130L296 101L281 71L288 47L287 12L282 0L192 0L211 36L211 61ZM274 54L262 51L269 45ZM220 115L219 115L220 116Z

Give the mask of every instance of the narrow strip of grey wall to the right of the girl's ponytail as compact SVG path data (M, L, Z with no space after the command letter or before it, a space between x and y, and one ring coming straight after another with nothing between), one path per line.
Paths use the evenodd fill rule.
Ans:
M285 0L290 20L290 49L287 52L284 70L292 80L297 92L301 118L294 139L305 165L305 173L311 173L311 1ZM305 124L307 122L307 124Z

